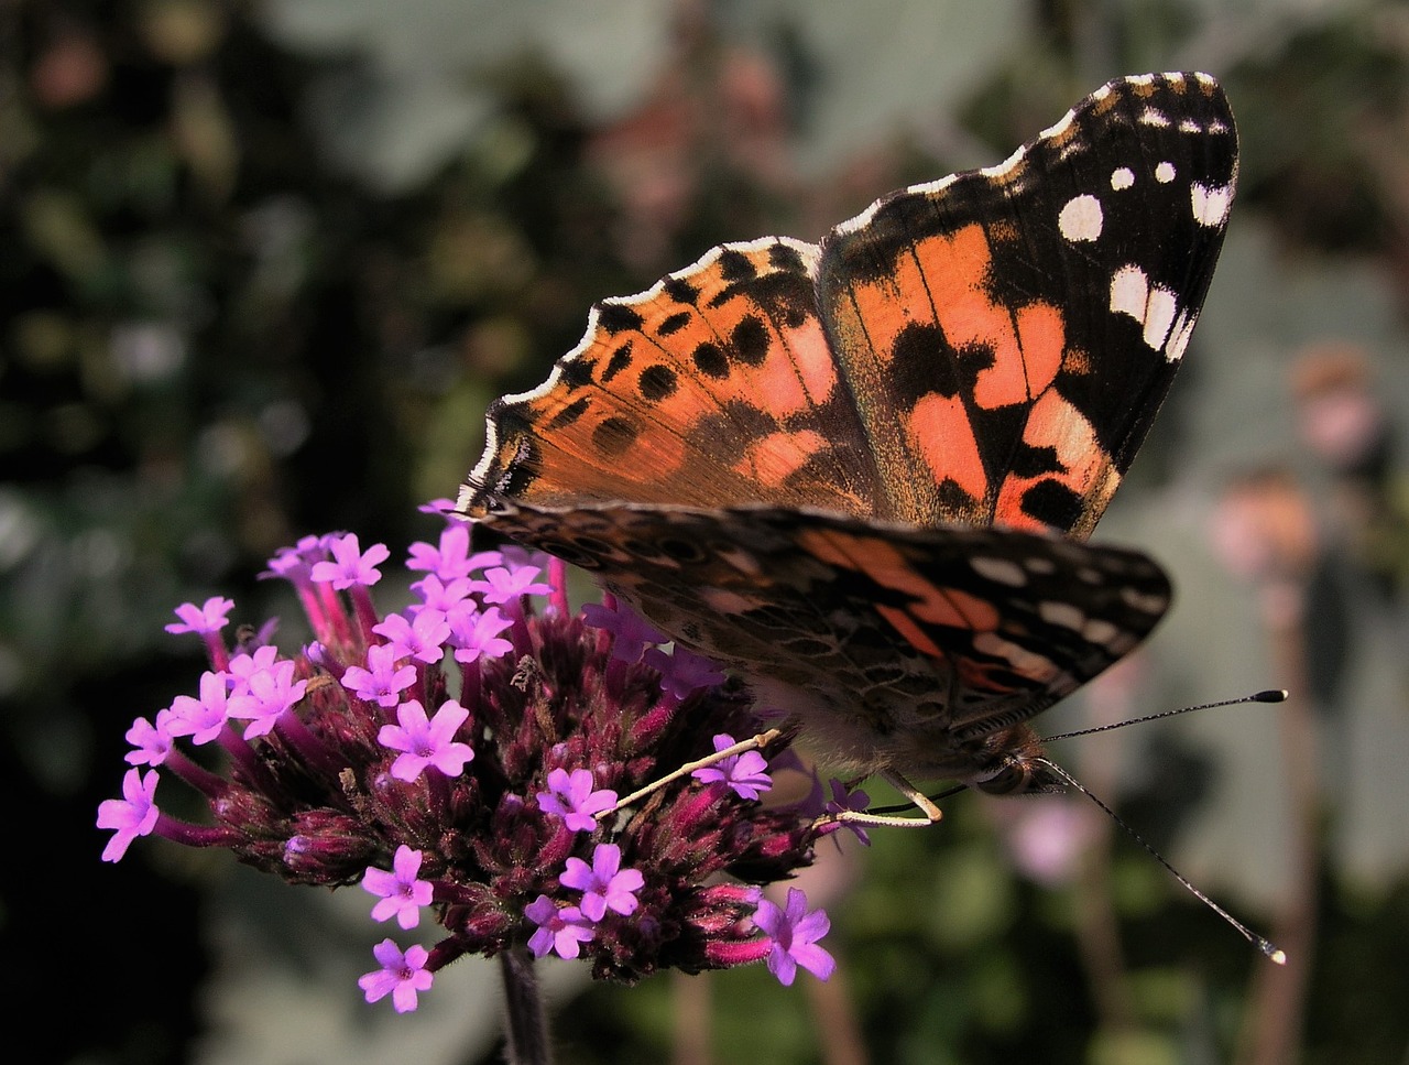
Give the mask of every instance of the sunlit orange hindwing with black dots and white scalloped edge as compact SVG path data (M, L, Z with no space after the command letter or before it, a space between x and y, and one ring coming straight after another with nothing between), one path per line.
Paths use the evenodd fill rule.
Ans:
M875 468L840 395L814 262L799 241L724 245L599 305L542 387L492 410L469 512L483 495L511 495L869 513Z

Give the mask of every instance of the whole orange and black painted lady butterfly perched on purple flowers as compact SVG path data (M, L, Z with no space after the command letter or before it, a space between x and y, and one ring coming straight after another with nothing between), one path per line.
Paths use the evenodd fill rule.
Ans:
M820 245L714 248L490 406L459 508L741 673L830 765L1050 787L1024 722L1169 605L1155 563L1084 540L1236 178L1217 83L1144 75Z

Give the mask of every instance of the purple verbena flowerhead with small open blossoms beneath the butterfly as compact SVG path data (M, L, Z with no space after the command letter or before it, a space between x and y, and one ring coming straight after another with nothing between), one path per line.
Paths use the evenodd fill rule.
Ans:
M128 731L123 798L99 810L114 831L104 859L156 834L228 848L290 883L361 884L372 917L403 930L428 917L438 942L385 939L361 982L399 1011L455 958L519 947L626 982L757 961L785 982L796 965L830 972L813 942L826 917L800 900L778 910L761 887L809 865L836 825L819 827L814 804L765 807L762 753L619 808L762 732L747 690L658 646L610 597L573 615L561 563L471 553L465 525L411 547L416 601L382 615L371 585L386 559L351 535L282 550L266 576L293 584L313 633L290 653L266 643L269 625L227 645L228 600L178 608L168 628L199 635L211 667L199 695ZM218 756L193 757L196 746ZM206 824L161 810L169 777L204 797Z

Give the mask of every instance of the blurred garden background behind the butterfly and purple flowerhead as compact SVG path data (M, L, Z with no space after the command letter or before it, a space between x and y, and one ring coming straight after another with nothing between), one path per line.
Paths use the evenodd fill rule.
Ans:
M406 1017L358 891L144 841L123 734L194 690L172 608L294 537L400 557L588 306L712 244L816 240L1103 80L1205 69L1240 199L1099 537L1169 568L1054 745L1268 965L1076 797L957 796L809 877L838 979L592 986L562 1059L1409 1061L1409 6L1388 0L3 0L0 1017L30 1061L496 1061L495 970ZM872 790L876 794L876 790ZM883 797L881 797L883 798ZM20 817L20 814L24 817ZM58 1010L55 1026L41 1017Z

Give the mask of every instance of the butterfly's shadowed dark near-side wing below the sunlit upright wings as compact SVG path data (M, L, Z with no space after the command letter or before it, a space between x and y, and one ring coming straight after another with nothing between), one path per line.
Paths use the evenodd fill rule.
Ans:
M950 755L1119 660L1171 595L1136 552L1005 529L772 506L509 506L496 523L755 686Z

